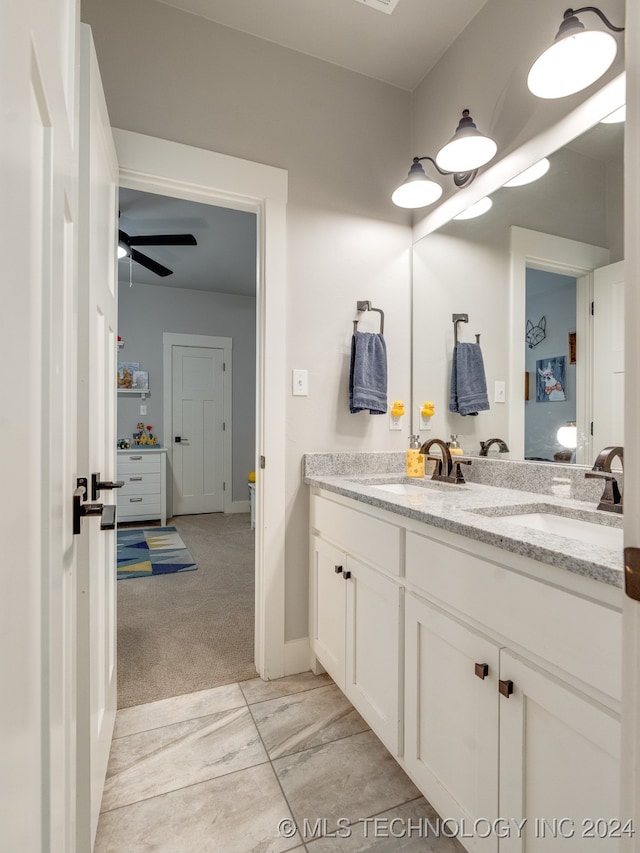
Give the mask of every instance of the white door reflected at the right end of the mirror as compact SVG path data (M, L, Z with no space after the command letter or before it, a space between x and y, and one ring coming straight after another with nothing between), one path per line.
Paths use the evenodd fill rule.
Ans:
M624 261L593 272L593 451L624 445ZM594 457L595 458L595 457ZM593 464L593 463L592 463Z

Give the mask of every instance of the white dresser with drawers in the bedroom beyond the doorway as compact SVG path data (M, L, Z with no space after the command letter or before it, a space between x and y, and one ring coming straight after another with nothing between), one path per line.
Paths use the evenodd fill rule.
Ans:
M167 523L167 449L132 447L118 450L118 521Z

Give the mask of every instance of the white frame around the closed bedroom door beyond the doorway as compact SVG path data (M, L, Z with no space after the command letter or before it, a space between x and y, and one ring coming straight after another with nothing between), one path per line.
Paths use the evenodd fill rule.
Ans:
M206 349L221 349L224 359L222 376L222 419L225 429L222 435L224 460L222 478L229 488L223 493L224 512L232 512L233 503L233 420L231 395L233 391L232 338L221 338L214 335L187 335L179 332L163 332L162 361L163 361L163 435L167 448L167 460L173 463L173 347L205 347ZM171 488L167 489L167 515L173 515L173 479Z

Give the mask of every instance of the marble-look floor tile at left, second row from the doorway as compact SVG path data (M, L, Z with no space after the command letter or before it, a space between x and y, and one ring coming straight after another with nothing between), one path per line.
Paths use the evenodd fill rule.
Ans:
M236 708L115 740L103 811L267 761L249 709Z

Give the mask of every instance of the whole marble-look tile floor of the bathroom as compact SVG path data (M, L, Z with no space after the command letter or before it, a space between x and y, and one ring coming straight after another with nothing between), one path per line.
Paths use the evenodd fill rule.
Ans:
M309 672L118 711L95 853L463 853L420 819L429 803Z

